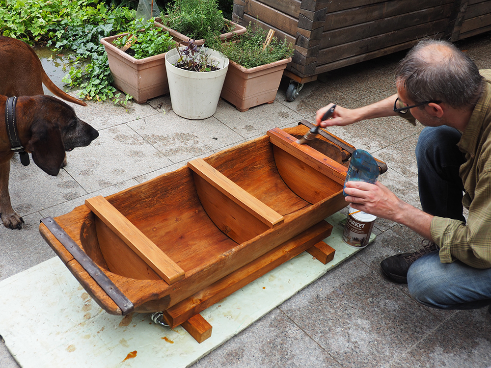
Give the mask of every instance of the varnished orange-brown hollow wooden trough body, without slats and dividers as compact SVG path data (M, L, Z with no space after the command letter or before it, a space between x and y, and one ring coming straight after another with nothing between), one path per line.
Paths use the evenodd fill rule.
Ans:
M294 193L276 168L268 136L214 154L204 161L281 214L284 221L245 242L233 241L214 225L203 209L194 174L187 166L108 196L108 202L122 216L185 270L185 277L171 286L148 276L134 279L111 272L112 261L106 262L98 249L96 223L99 220L87 206L79 206L56 218L69 236L94 256L109 279L134 304L135 312L164 311L346 207L339 183L335 183L332 195L313 204ZM114 302L80 264L65 254L62 245L46 233L46 228L41 226L40 231L97 303L108 313L120 315Z

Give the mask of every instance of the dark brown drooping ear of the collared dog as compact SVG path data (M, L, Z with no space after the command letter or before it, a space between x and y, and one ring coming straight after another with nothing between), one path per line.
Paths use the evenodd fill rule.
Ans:
M31 133L26 149L33 161L47 174L58 175L65 158L60 129L50 121L39 120L32 125Z

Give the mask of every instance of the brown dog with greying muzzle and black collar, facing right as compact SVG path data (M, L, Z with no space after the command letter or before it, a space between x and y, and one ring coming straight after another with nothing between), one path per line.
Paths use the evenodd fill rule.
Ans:
M5 111L6 101L5 96L0 96L0 111ZM75 115L71 106L52 96L19 97L16 118L21 144L34 163L53 176L59 173L65 151L88 146L99 136L98 131ZM0 216L5 227L20 229L24 221L12 209L8 193L13 156L5 115L0 113Z

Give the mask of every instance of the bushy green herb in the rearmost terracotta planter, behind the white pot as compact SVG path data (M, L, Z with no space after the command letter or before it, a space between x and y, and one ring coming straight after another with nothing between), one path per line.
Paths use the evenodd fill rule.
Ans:
M225 27L217 0L175 0L163 23L194 40L214 39Z

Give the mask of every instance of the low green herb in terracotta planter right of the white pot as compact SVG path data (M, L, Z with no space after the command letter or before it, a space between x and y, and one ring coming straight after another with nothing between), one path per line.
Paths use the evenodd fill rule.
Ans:
M232 42L216 43L214 48L244 68L254 68L293 55L293 46L287 42L286 38L280 40L273 37L269 46L263 50L267 35L266 30L249 23L246 33L234 37Z

